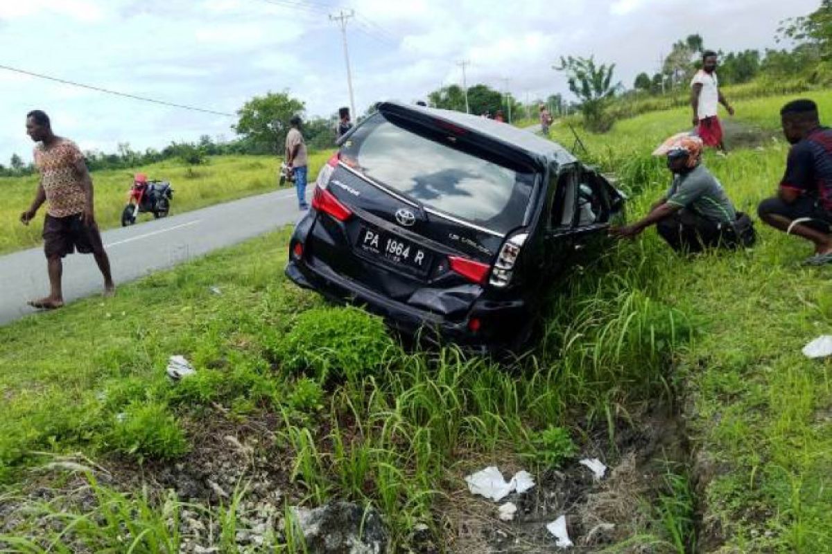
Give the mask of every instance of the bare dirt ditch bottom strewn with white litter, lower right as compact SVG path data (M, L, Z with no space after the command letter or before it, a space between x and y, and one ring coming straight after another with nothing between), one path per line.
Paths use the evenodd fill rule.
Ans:
M656 522L653 506L666 494L668 471L685 473L691 467L685 424L679 414L664 408L636 414L631 423L619 425L612 442L606 429L597 429L582 446L581 457L599 458L608 466L606 475L597 480L573 460L559 471L538 475L539 482L527 493L513 493L500 503L460 490L446 512L456 535L449 550L552 552L555 539L546 525L563 515L574 543L569 552L598 552L626 542L631 544L617 552L676 552L656 542L655 537L663 532L655 529L661 522ZM514 470L507 467L503 473ZM512 522L498 518L498 506L505 502L518 507Z

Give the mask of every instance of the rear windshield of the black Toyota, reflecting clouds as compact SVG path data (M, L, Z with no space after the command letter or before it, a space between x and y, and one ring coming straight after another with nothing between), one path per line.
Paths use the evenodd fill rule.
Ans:
M344 143L342 159L440 214L500 234L521 225L534 175L448 135L376 114Z

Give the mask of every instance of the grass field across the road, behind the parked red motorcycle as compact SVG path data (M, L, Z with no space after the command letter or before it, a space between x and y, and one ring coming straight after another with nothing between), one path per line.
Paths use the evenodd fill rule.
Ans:
M329 152L310 155L310 179L329 157ZM121 225L121 210L127 200L127 191L133 182L133 174L144 172L150 179L165 179L174 188L171 214L205 208L215 203L262 194L277 188L277 171L280 166L275 156L215 156L204 165L189 166L178 160L166 160L135 169L109 169L92 174L95 189L96 218L99 227L113 228ZM29 207L37 189L37 175L29 177L0 177L3 194L0 206L0 254L21 248L31 248L41 243L43 213L28 226L18 218ZM140 220L149 220L149 213Z

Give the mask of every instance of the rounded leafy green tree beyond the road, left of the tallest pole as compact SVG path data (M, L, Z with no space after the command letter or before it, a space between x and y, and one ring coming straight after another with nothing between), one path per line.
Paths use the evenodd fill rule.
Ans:
M269 92L265 96L255 96L237 110L240 120L231 128L265 152L281 153L289 132L289 120L304 108L303 102L285 92Z

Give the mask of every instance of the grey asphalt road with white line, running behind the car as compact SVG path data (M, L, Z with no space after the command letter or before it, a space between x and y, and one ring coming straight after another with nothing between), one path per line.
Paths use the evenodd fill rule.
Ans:
M307 187L311 194L314 183ZM171 205L176 213L176 199ZM116 287L148 273L173 267L217 248L294 224L303 215L295 189L280 189L193 212L137 223L102 233ZM38 214L42 217L42 214ZM151 217L142 214L141 218ZM64 258L65 302L103 290L92 255ZM0 257L0 325L34 312L27 300L47 296L49 278L42 248Z

